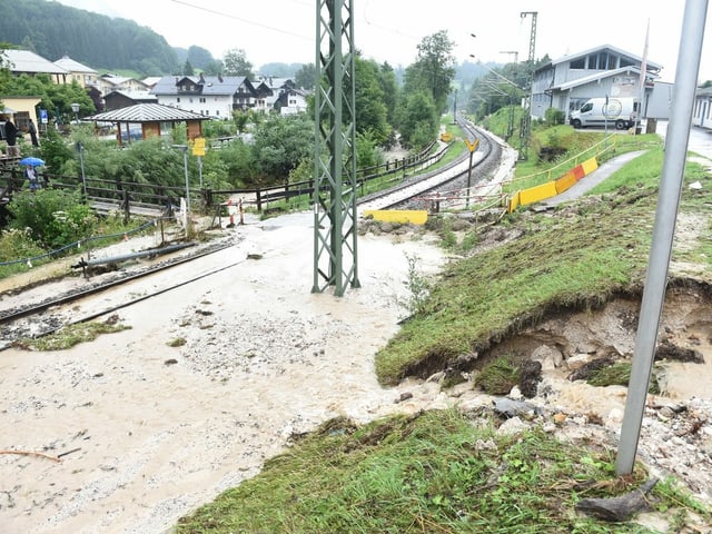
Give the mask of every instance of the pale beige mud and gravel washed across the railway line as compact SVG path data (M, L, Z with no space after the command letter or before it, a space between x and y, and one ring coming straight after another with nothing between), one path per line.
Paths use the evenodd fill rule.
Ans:
M406 313L398 301L407 297L408 256L424 274L447 260L434 236L362 236L362 288L339 298L310 293L308 215L225 231L228 249L171 270L169 281L217 273L121 309L130 329L70 350L0 352L0 448L47 455L0 455L3 532L164 532L258 473L291 435L329 417L365 422L493 405L473 388L472 376L447 390L437 376L395 388L375 379L374 354ZM134 283L50 315L93 313L161 284ZM665 396L650 398L640 443L655 474L673 474L708 500L709 305L694 287L676 290L670 301L665 336L693 347L705 363L666 364ZM538 394L520 398L538 415L511 414L504 426L543 424L562 437L614 447L625 389L568 376L603 355L629 354L634 316L634 301L613 301L595 313L551 317L502 345L528 352L544 368Z

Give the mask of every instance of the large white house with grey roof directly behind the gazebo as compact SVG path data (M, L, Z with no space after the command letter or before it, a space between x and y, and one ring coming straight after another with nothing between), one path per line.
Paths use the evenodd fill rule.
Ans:
M219 119L255 108L258 99L255 86L244 76L165 76L150 92L164 106Z

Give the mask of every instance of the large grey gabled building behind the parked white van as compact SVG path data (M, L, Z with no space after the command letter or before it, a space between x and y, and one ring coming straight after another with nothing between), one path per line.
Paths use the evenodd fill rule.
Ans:
M544 118L548 108L566 116L590 98L634 97L640 99L643 58L611 44L584 50L553 60L534 71L532 117ZM662 66L645 59L645 89L642 117Z

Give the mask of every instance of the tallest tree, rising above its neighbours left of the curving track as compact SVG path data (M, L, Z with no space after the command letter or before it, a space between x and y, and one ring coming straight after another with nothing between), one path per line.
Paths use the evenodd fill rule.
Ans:
M425 37L417 46L415 63L411 65L405 73L404 90L427 90L438 112L446 109L447 96L455 78L455 57L452 53L454 46L445 30Z

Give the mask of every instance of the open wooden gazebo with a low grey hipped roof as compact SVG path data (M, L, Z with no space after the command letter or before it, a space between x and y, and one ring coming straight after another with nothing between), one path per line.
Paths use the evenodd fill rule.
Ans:
M137 103L135 106L85 117L83 120L113 122L117 126L116 139L119 145L122 145L125 135L126 140L131 142L130 125L140 125L140 138L146 139L149 137L160 137L166 125L169 125L172 129L176 128L177 122L185 122L187 138L192 140L196 137L202 137L202 121L210 120L210 117L162 106L160 103Z

